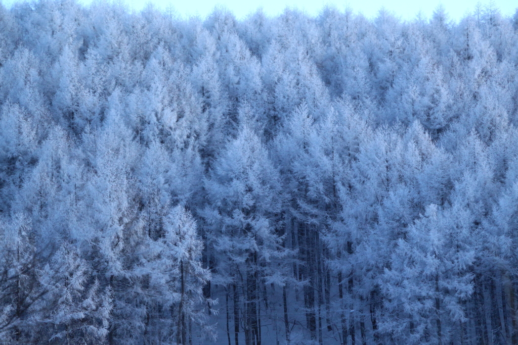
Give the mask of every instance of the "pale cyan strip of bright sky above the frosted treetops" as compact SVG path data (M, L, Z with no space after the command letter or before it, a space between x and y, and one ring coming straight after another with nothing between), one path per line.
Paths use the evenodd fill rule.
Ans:
M83 4L89 4L92 0L79 0ZM121 0L133 10L139 11L151 3L162 9L174 8L181 17L201 16L205 17L215 6L224 6L231 10L238 19L262 8L268 16L280 14L286 7L296 7L306 13L315 16L324 6L331 5L343 10L351 8L355 13L363 13L367 18L376 17L380 9L392 11L402 20L412 20L421 13L422 18L430 18L438 6L444 6L450 19L458 21L466 14L473 13L477 4L482 8L490 5L497 8L503 16L513 16L518 7L515 0L494 0L477 2L474 0L456 0L455 2L441 3L440 1L415 1L415 0L369 0L369 1L343 1L343 0ZM0 0L4 5L11 6L18 0Z

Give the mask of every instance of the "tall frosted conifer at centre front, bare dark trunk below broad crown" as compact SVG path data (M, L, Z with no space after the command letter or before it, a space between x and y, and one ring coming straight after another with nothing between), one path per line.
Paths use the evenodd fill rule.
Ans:
M242 325L250 345L261 339L265 284L283 284L276 266L285 250L276 226L281 206L278 172L261 140L242 122L205 182L209 205L203 217L215 256L212 283L233 290L235 340L239 342Z

